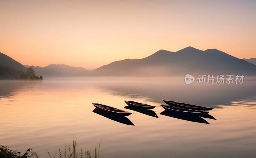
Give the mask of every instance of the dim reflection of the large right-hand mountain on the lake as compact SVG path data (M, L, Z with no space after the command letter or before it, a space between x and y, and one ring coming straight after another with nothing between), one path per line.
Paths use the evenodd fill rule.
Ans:
M144 80L101 82L96 85L108 89L116 96L125 97L126 100L136 99L139 102L153 105L164 104L162 99L218 108L215 105L230 105L235 99L244 99L256 94L255 81L244 81L243 84L205 84L193 83L186 85L184 76L176 80ZM157 106L157 104L153 106Z

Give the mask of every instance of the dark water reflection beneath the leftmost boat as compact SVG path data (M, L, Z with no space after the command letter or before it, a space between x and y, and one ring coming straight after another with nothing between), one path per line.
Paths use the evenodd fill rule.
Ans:
M101 116L104 116L104 117L106 117L106 118L108 118L108 119L110 119L110 120L114 120L114 121L116 121L116 122L120 122L120 123L124 123L124 124L127 124L127 125L132 125L132 126L134 126L134 124L132 123L132 121L129 120L129 119L128 119L127 117L125 117L125 116L119 116L119 115L108 114L108 113L102 112L102 111L100 111L100 110L98 110L98 109L96 109L96 108L95 108L92 112L93 112L93 113L96 113L96 114L99 114L99 115L101 115Z

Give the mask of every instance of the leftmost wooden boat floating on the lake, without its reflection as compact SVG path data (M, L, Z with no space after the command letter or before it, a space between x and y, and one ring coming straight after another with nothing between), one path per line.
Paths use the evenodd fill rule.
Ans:
M110 113L110 114L115 114L115 115L120 115L120 116L129 116L129 115L132 114L128 111L117 109L115 107L109 107L109 106L103 105L103 104L92 103L92 105L94 107L96 107L98 110L103 111L103 112L107 112L107 113Z

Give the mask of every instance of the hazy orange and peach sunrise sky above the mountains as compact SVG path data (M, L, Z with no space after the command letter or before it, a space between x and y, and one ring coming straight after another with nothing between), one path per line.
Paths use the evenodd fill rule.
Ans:
M24 65L97 68L164 49L256 58L256 1L0 0L0 52Z

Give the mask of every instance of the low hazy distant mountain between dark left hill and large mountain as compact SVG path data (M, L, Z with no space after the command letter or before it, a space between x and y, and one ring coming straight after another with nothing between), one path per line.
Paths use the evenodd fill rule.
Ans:
M91 72L83 67L72 67L64 64L51 64L46 67L31 66L43 77L77 77L87 76Z

